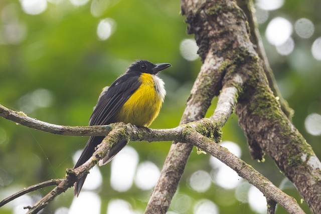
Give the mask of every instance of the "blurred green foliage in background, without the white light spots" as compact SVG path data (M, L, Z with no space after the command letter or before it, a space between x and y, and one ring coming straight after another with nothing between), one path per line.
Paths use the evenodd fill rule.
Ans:
M103 1L94 1L103 2ZM26 14L21 3L12 0L0 2L0 103L14 110L25 111L29 116L54 124L83 126L95 105L100 90L110 85L135 59L153 63L171 63L160 76L166 82L167 97L160 115L151 128L172 128L179 124L193 81L201 62L189 62L180 53L186 35L184 17L180 15L180 1L113 1L99 16L92 15L92 2L73 6L69 1L48 1L47 9L39 15ZM304 120L310 113L321 114L321 63L311 55L313 41L321 35L319 1L286 1L283 7L270 11L268 21L281 16L292 24L299 18L307 18L315 26L309 39L292 38L294 51L280 56L275 47L268 44L264 32L268 21L260 25L260 32L267 56L281 92L290 107L295 110L294 125L312 145L321 158L320 136L308 134ZM116 27L107 40L97 37L101 19L111 18ZM17 29L12 26L18 26ZM16 30L15 30L16 29ZM9 34L6 34L6 32ZM16 40L7 37L21 35ZM45 89L45 90L43 90ZM39 101L40 99L40 101ZM45 101L44 101L45 100ZM215 102L208 115L214 111ZM223 140L237 143L242 149L242 159L267 176L276 186L284 176L274 162L266 157L257 163L249 157L246 139L232 115L223 128ZM82 149L86 137L59 136L44 133L12 121L0 118L0 195L3 199L24 186L59 178L65 169L73 166L72 155ZM171 142L133 142L139 161L150 160L162 168ZM220 213L255 213L248 203L239 202L234 189L226 190L212 183L206 192L196 192L188 185L189 177L196 170L210 173L208 155L197 155L194 150L183 174L178 195L188 195L192 205L199 199L214 201ZM112 198L127 200L133 209L143 210L151 190L133 187L126 192L112 190L109 184L110 166L100 168L103 185L99 191L102 199L101 213L106 213ZM45 194L49 188L33 193ZM285 191L300 201L293 188ZM176 196L170 210L176 210ZM72 191L57 198L44 212L53 213L58 207L69 207ZM26 204L31 205L31 204ZM11 206L0 208L0 213L11 213ZM309 209L305 203L302 207ZM185 213L193 213L193 208ZM286 213L278 207L277 213Z

